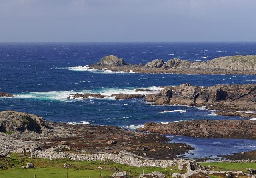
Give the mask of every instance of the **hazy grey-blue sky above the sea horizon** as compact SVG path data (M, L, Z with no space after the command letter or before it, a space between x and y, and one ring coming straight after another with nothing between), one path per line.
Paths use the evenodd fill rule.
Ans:
M256 41L256 0L0 0L0 42Z

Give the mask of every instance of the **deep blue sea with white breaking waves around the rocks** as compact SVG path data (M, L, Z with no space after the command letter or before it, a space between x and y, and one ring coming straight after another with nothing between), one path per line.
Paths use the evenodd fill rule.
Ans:
M14 110L36 114L54 122L120 126L128 130L135 130L145 122L240 120L240 117L217 116L213 110L204 107L152 106L144 99L67 97L74 93L147 94L159 91L161 86L184 83L212 86L256 82L254 75L138 74L88 69L87 65L107 55L124 58L130 64L146 64L155 59L166 62L172 58L202 62L220 56L256 55L256 42L0 43L0 92L14 95L14 98L0 98L0 111ZM135 92L138 88L153 91ZM171 136L172 142L187 141L194 148L201 148L199 144L191 143L191 139ZM214 140L216 142L223 146L222 139ZM229 152L225 153L255 150L256 140L248 142L254 146L245 144L240 149L235 146L228 149L227 146ZM209 141L207 145L210 143L213 142ZM216 144L213 145L216 147ZM208 155L204 150L200 153Z

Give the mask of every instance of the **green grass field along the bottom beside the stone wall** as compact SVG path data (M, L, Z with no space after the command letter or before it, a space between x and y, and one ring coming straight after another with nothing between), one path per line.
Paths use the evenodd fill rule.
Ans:
M26 163L33 163L34 169L23 169L21 166L26 166ZM64 168L64 164L70 164L71 167ZM256 163L201 163L203 166L212 166L212 170L242 170L248 172L245 168L256 168ZM101 166L102 169L98 169ZM178 166L169 168L150 168L150 167L132 167L125 164L118 164L112 161L73 161L70 159L41 159L41 158L29 158L28 155L22 156L20 154L11 154L10 158L0 158L0 178L99 178L100 173L102 178L112 177L112 174L117 169L120 171L126 171L131 174L128 178L138 177L144 170L145 173L154 171L160 171L170 177L170 172L185 173L185 170L178 170ZM210 176L211 178L219 178L218 176Z

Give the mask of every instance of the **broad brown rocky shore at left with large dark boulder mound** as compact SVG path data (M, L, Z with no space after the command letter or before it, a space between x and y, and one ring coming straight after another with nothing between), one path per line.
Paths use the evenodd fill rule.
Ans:
M48 152L73 150L78 153L118 154L126 150L137 157L175 158L191 150L187 144L165 143L160 134L127 131L116 126L66 124L44 120L24 112L0 112L0 154L10 151Z

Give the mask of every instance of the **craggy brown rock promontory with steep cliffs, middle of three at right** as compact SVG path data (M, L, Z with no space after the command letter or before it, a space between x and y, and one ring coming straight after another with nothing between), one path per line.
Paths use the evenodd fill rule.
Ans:
M239 114L244 117L255 116L256 84L215 85L211 87L182 84L176 87L164 88L157 94L146 95L145 98L148 102L154 102L155 105L206 106L206 108L213 110L233 112L233 115L236 116ZM167 91L168 94L164 94ZM228 115L228 113L220 112L217 112L217 114Z

